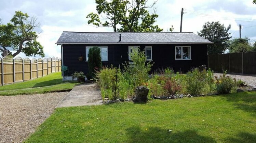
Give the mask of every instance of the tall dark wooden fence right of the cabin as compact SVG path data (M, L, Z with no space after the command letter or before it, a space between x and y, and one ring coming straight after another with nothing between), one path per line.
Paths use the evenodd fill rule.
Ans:
M256 75L256 52L208 55L208 68L214 72Z

